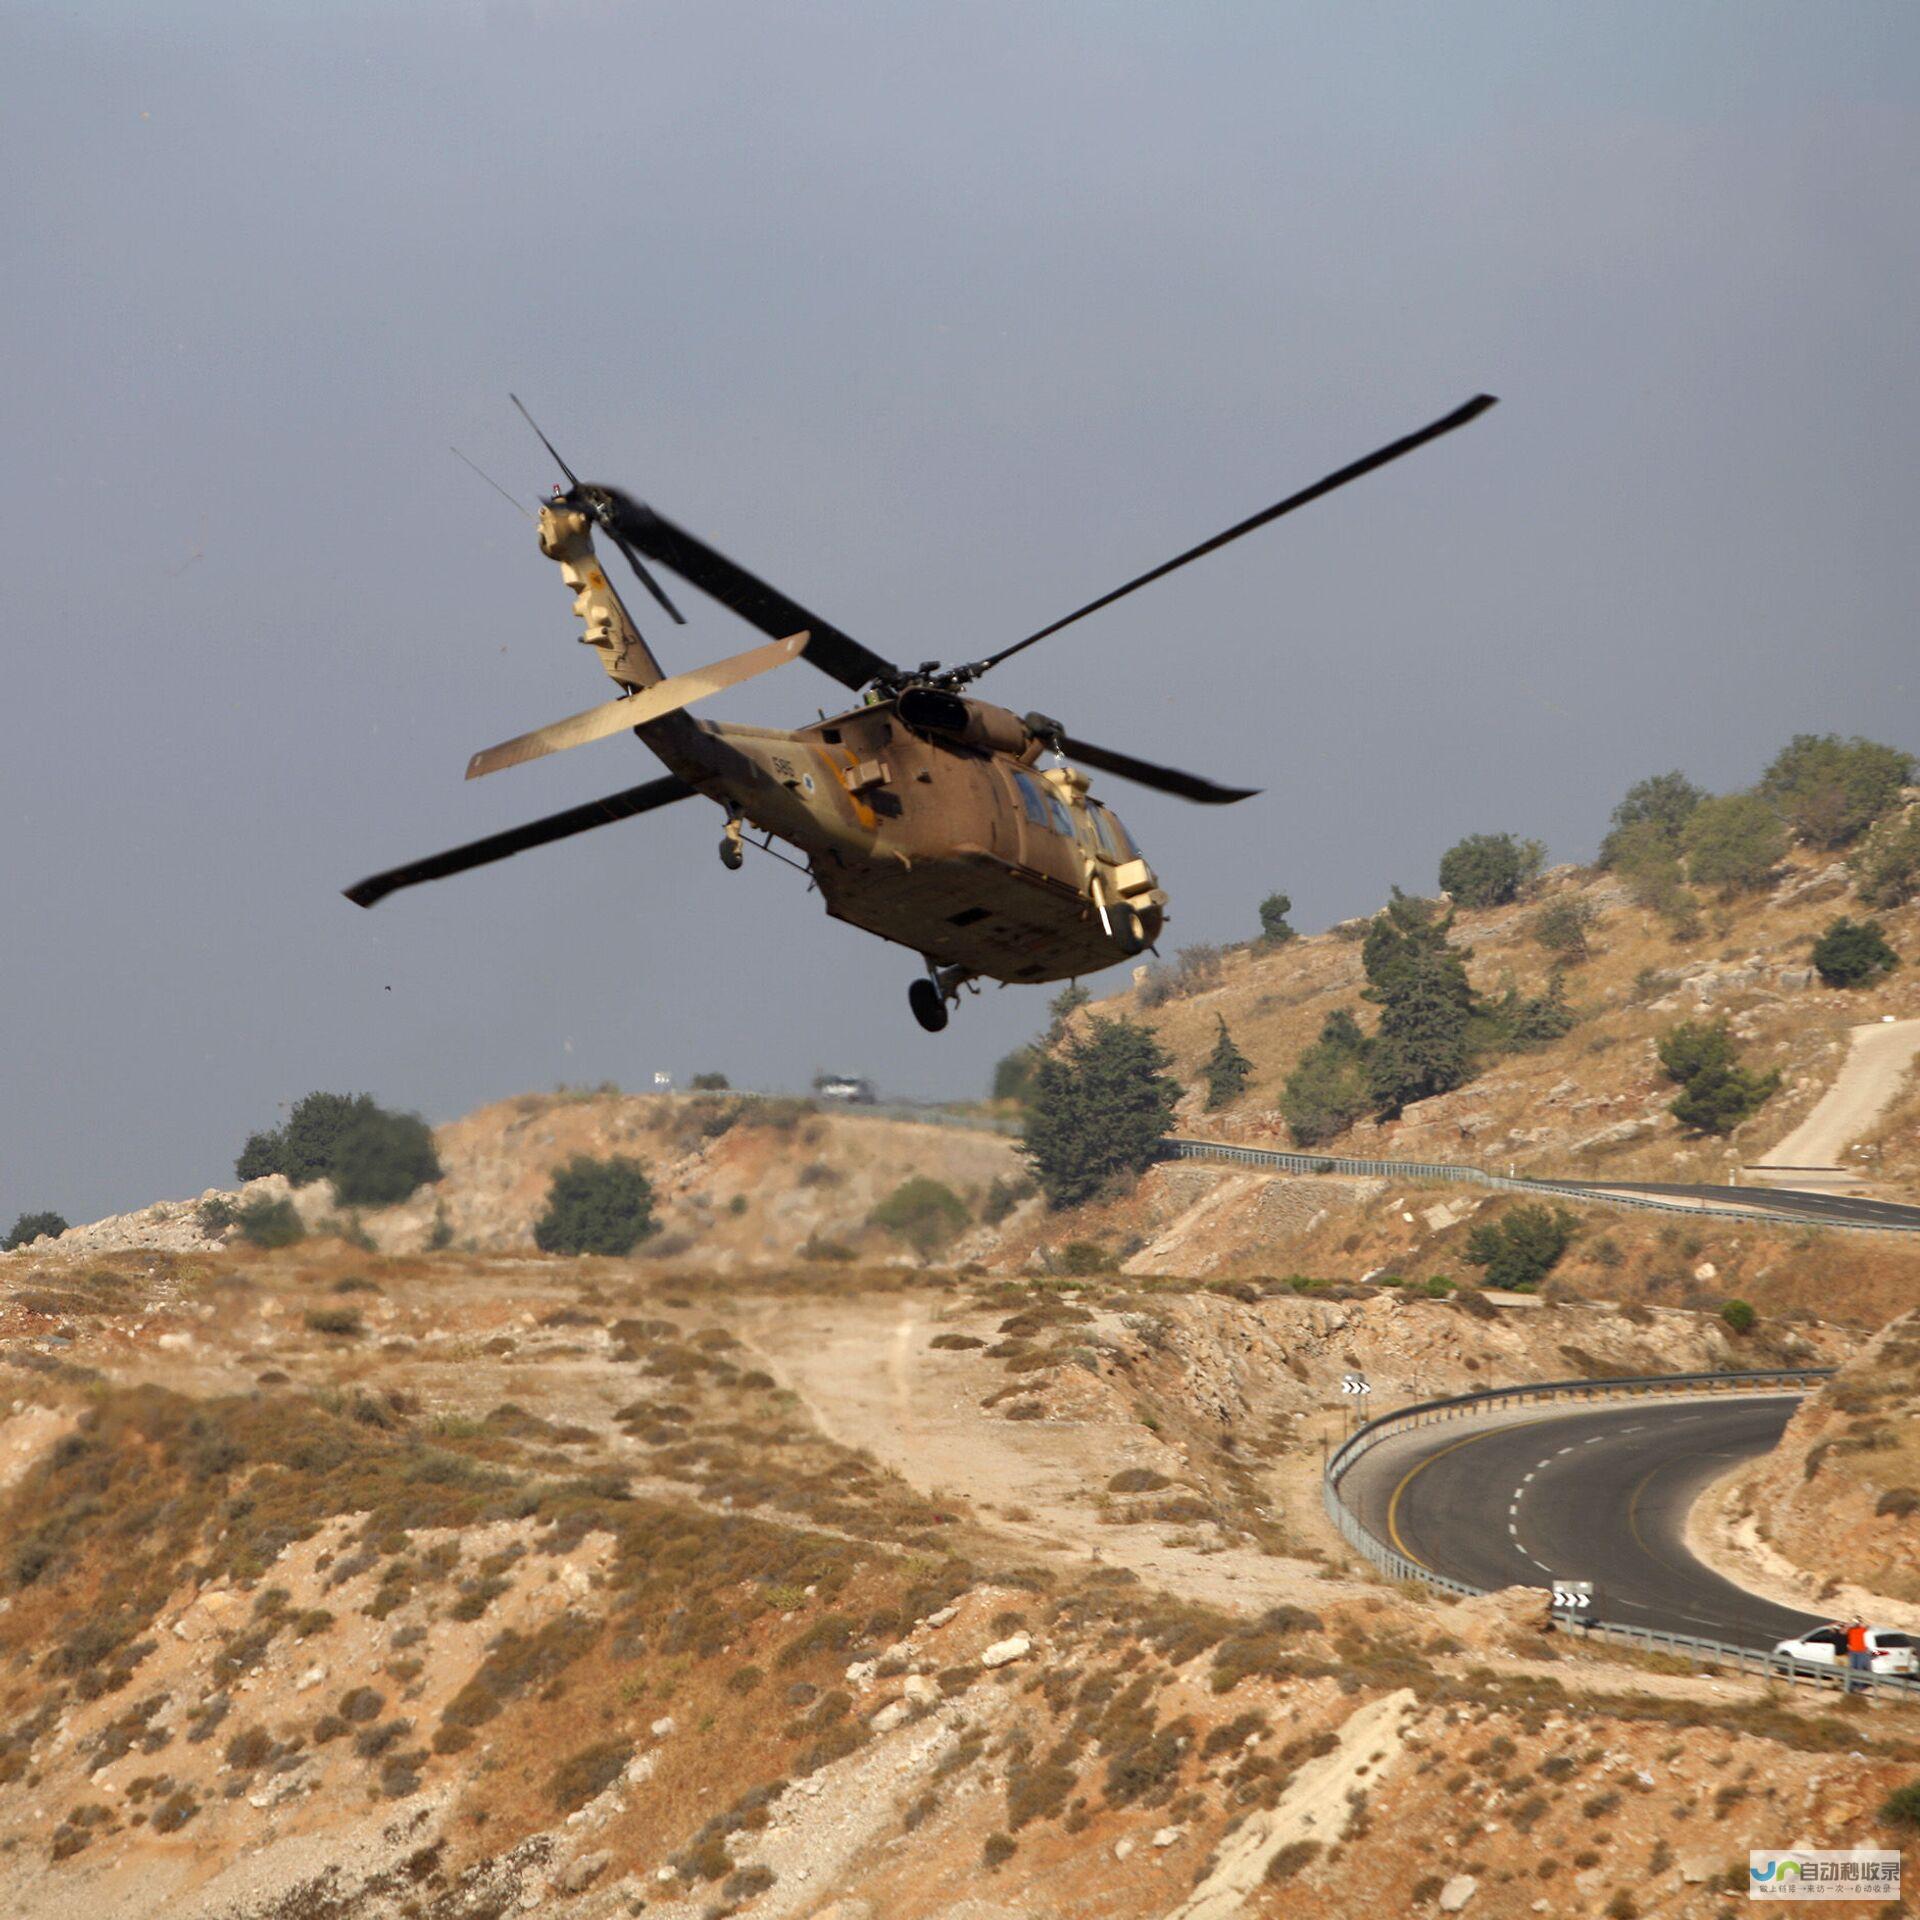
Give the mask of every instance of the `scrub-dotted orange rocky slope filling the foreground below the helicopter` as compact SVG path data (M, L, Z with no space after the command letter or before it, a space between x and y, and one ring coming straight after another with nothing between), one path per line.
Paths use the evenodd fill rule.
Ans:
M1697 1315L340 1240L0 1284L27 1920L1709 1916L1920 1770L1916 1713L1386 1588L1317 1511L1340 1367Z

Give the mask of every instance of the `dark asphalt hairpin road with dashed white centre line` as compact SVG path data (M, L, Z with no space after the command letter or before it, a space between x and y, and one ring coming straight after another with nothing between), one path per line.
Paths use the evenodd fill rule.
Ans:
M1686 1515L1709 1480L1768 1452L1797 1405L1753 1394L1415 1427L1340 1492L1375 1538L1455 1580L1592 1580L1601 1620L1770 1647L1818 1617L1703 1567Z

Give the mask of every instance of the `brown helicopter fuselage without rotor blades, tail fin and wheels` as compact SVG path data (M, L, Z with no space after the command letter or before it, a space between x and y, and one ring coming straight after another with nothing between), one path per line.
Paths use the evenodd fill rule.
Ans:
M1119 820L1041 747L1010 753L874 701L797 732L672 714L636 728L687 785L806 858L828 912L1000 981L1133 958L1167 897Z

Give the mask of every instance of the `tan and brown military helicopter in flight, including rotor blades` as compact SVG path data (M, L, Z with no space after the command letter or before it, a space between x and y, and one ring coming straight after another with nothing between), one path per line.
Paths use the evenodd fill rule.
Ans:
M620 693L476 753L467 778L624 732L653 749L668 772L372 874L346 897L372 906L401 887L705 795L726 812L720 860L730 870L741 868L747 845L776 852L774 841L785 841L803 854L803 870L835 920L922 956L925 973L910 985L908 1004L929 1033L947 1025L948 1008L962 991L977 993L981 979L1071 979L1135 958L1160 937L1167 895L1119 818L1092 797L1083 768L1208 806L1250 799L1258 789L1116 753L1046 714L1016 714L975 699L968 687L1075 620L1465 426L1492 405L1490 394L1478 394L998 653L914 668L874 653L618 488L580 480L520 407L566 476L566 486L555 486L540 509L540 551L559 563L574 589L580 639L599 653ZM666 674L599 563L595 530L620 549L674 624L685 620L649 561L758 628L768 645L689 674ZM797 659L858 695L858 705L791 732L695 720L685 710ZM1058 764L1043 766L1046 755ZM749 828L762 837L749 843Z

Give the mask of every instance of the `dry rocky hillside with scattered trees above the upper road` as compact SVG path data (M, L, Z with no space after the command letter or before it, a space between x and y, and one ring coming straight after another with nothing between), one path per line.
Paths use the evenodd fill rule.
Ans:
M1847 1029L1884 1016L1920 1014L1920 902L1882 912L1905 966L1878 985L1824 987L1809 962L1814 937L1839 914L1860 912L1845 864L1795 854L1772 893L1707 906L1697 937L1676 941L1668 922L1636 906L1617 879L1588 868L1555 868L1526 899L1482 912L1461 910L1453 943L1482 995L1509 985L1546 991L1553 956L1532 937L1542 908L1578 900L1594 912L1590 958L1567 972L1578 1023L1536 1052L1496 1056L1455 1092L1409 1106L1400 1119L1363 1119L1329 1152L1379 1160L1465 1162L1521 1173L1586 1173L1601 1179L1724 1181L1766 1158L1805 1117L1845 1060ZM1173 996L1154 1002L1150 968L1137 985L1096 1002L1154 1027L1192 1089L1181 1108L1187 1131L1254 1144L1292 1146L1279 1112L1281 1087L1336 1008L1371 1027L1361 998L1359 935L1365 922L1294 939L1279 948L1227 948L1198 968L1167 970ZM1181 991L1183 973L1194 991ZM1778 1068L1782 1092L1728 1139L1682 1133L1667 1112L1674 1087L1655 1060L1655 1039L1686 1018L1724 1014L1745 1058ZM1254 1062L1246 1092L1206 1112L1200 1064L1219 1021ZM1908 1104L1916 1094L1907 1094ZM1864 1165L1885 1177L1887 1198L1920 1198L1920 1162L1901 1135L1868 1140Z

